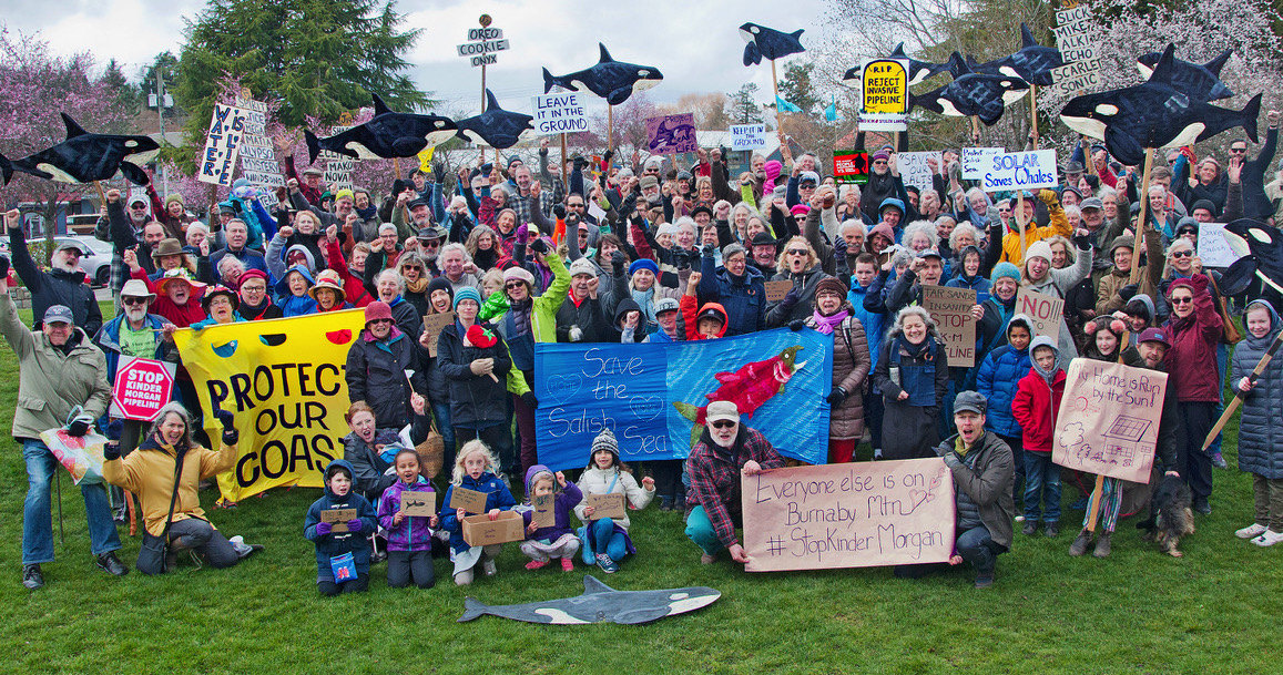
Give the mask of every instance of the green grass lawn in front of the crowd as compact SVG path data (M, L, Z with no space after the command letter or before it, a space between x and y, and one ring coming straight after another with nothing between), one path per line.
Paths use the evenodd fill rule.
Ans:
M110 307L104 309L110 313ZM0 418L18 377L0 348ZM1234 466L1237 423L1225 439ZM645 626L540 626L482 617L457 624L466 594L489 604L575 595L582 571L536 572L514 545L499 575L467 590L436 561L438 586L393 590L385 567L371 592L316 592L303 515L319 490L273 490L213 511L228 535L267 545L231 570L190 563L163 577L109 577L89 553L83 502L63 475L67 542L45 565L46 586L21 583L24 468L0 440L0 643L5 672L1279 672L1283 547L1236 539L1252 517L1251 480L1215 472L1214 512L1182 542L1182 560L1119 525L1114 554L1066 554L1082 512L1058 539L1023 536L998 562L997 584L970 571L917 581L889 568L751 575L725 560L699 565L680 513L635 513L640 549L616 575L621 590L708 585L722 597L694 613ZM1067 506L1076 494L1065 490ZM55 507L56 515L56 507ZM131 563L139 540L123 536ZM56 524L55 524L56 542Z

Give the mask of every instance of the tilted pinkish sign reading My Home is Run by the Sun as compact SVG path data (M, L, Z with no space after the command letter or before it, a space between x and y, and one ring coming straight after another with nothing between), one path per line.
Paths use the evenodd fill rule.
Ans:
M1168 373L1075 358L1065 379L1051 461L1148 483Z

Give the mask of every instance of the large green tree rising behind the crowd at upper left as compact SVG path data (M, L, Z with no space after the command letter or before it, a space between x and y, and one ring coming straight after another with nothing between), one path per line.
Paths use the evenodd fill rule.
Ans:
M282 101L290 127L308 115L334 123L370 105L371 92L400 110L435 101L404 74L422 31L402 31L393 0L210 0L187 21L176 92L191 112L189 136L209 122L217 85L240 78L255 98Z

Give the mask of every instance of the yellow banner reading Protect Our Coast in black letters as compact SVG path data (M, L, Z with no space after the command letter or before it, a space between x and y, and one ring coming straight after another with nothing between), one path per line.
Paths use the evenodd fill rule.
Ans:
M361 309L180 330L173 338L217 443L216 407L240 431L236 466L218 476L223 499L239 502L281 485L319 488L343 457L348 425L348 349L364 327Z

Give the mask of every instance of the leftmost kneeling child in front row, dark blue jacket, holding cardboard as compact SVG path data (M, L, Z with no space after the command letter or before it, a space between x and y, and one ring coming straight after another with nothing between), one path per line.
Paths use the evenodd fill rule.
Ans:
M357 517L344 522L346 531L335 531L339 524L322 522L322 511L352 508ZM335 459L325 467L325 495L312 503L308 517L303 522L303 536L317 547L317 586L322 595L339 593L364 593L370 589L370 540L366 536L375 533L378 520L370 500L352 490L352 465ZM344 570L343 557L352 554L355 577L340 579Z

